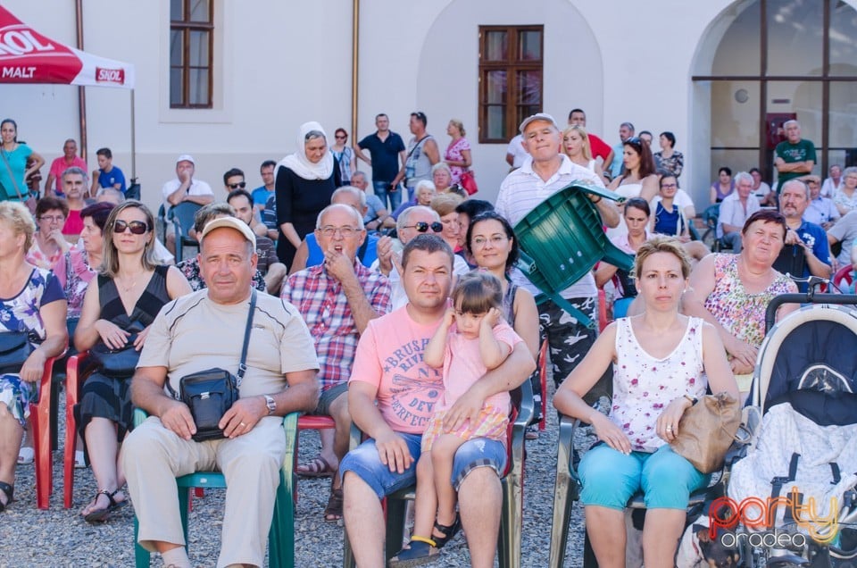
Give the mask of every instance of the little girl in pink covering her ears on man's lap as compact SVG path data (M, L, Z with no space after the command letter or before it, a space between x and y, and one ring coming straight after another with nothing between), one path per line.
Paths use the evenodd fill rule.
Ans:
M390 560L391 566L437 554L461 527L455 513L453 457L470 439L487 438L505 443L511 399L508 392L488 397L475 422L446 431L446 411L485 373L500 366L522 340L503 321L503 288L487 272L470 272L459 278L451 294L454 309L428 342L423 361L444 370L444 396L435 406L422 437L423 455L417 464L417 499L411 542ZM434 484L434 491L423 489ZM436 516L437 512L437 516ZM432 530L434 522L434 530Z

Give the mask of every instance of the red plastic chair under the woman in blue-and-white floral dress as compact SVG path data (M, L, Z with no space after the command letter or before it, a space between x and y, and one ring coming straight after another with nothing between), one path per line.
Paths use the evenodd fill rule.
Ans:
M54 380L54 362L65 355L48 357L42 380L39 382L37 403L29 405L30 420L33 424L33 448L36 452L36 506L48 509L51 506L51 494L54 492L54 455L51 453L51 400L54 397L51 384Z

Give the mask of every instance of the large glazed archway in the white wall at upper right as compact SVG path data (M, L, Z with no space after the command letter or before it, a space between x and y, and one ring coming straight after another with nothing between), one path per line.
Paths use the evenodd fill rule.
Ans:
M850 2L736 2L712 23L696 63L695 116L707 103L711 119L707 131L697 129L708 135L710 180L721 165L759 166L772 180L773 148L790 117L816 146L813 173L857 164L857 11Z

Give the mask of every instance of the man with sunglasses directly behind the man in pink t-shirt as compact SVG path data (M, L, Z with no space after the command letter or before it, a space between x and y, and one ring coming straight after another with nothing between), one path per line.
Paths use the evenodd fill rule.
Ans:
M440 216L430 207L415 205L408 207L395 221L397 238L381 237L378 239L378 260L372 263L373 271L380 271L390 280L393 289L393 309L398 309L408 303L408 296L400 275L402 274L402 250L417 235L437 235L444 230ZM460 255L453 259L453 276L466 274L470 271L467 262Z

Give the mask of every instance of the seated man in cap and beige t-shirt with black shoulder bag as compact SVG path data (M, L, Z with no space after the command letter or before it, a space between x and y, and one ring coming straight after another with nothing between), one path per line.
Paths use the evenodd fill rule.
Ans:
M215 219L200 240L208 287L165 305L149 328L131 390L134 405L150 416L125 440L122 466L139 519L139 543L160 552L164 565L191 566L176 477L219 469L228 487L217 565L262 566L286 453L282 416L315 408L319 363L295 306L251 290L255 237L247 224L235 217ZM220 419L225 438L196 442L187 405L164 387L169 380L179 392L182 377L212 368L236 374L253 303L240 398Z

